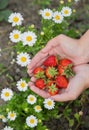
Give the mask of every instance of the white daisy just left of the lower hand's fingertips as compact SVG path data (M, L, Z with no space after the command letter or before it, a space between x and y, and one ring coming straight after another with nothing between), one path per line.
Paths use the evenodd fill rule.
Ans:
M25 80L20 79L20 81L17 82L17 88L19 91L26 91L28 84Z

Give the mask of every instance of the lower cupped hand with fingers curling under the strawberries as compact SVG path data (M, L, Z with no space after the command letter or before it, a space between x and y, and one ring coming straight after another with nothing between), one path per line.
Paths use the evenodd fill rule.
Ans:
M89 65L78 65L74 67L74 71L76 75L69 80L68 87L66 89L62 89L62 91L55 96L50 96L47 92L35 87L34 78L32 78L32 82L29 83L29 86L32 91L44 98L51 98L54 101L60 102L75 100L85 89L89 87Z

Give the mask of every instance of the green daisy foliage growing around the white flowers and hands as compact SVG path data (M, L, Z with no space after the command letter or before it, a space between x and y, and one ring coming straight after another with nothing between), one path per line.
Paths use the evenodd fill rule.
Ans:
M37 2L43 4L43 6L48 5L50 3L50 1L48 2L46 1L47 2L46 3L45 1L40 1L40 0L38 0ZM3 7L5 8L7 4ZM57 10L61 11L62 7L66 5L72 8L72 3L71 4L64 3L58 6L58 8L55 11ZM71 26L71 20L73 21L74 18L75 18L75 14L72 13L72 16L65 18L61 24L56 24L52 20L45 20L44 18L42 18L41 27L39 31L35 29L33 25L29 25L28 27L16 26L16 29L21 31L21 33L32 31L37 35L37 41L36 44L34 44L34 46L28 46L28 45L24 46L22 41L17 42L14 45L17 54L19 54L20 52L27 52L32 58L39 50L44 48L44 46L47 44L47 42L50 39L52 39L53 37L59 34L66 34L73 38L78 37L80 33L76 30L76 28ZM3 67L2 64L0 65L0 67L1 68ZM21 71L23 71L23 73L27 73L26 68L22 68ZM11 79L9 75L8 77L9 79ZM22 77L22 78L26 80L26 82L30 81L30 77ZM69 128L74 128L76 122L78 125L81 124L78 110L76 111L76 109L72 109L72 107L74 108L77 107L78 109L81 109L80 101L76 100L75 104L73 104L73 102L69 102L67 104L55 103L54 109L48 110L43 105L44 99L36 95L35 93L33 93L30 89L28 89L25 92L17 91L17 88L15 89L16 92L14 92L14 96L12 97L12 99L8 101L7 104L0 107L0 114L3 114L5 117L7 117L7 113L9 111L15 111L17 113L17 118L15 121L7 120L7 125L13 127L14 129L34 130L34 128L29 128L26 124L26 117L29 115L35 115L38 119L36 130L46 130L47 126L44 125L44 122L49 121L51 118L56 118L59 120L65 118L68 122ZM33 94L37 98L37 102L33 105L27 103L27 96L29 94ZM40 113L37 113L34 110L35 105L40 105L42 107L42 111Z

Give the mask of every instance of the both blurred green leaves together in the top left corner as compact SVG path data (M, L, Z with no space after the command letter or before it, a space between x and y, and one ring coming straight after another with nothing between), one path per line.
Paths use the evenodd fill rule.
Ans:
M7 9L9 0L0 0L0 22L8 21L9 15L12 13L11 10Z

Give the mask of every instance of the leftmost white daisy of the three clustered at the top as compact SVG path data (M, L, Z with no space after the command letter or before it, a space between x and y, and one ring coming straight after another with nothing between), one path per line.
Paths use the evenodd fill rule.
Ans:
M41 10L40 11L40 14L42 15L42 17L44 19L52 19L52 16L53 16L53 12L51 9L44 9L44 10Z

